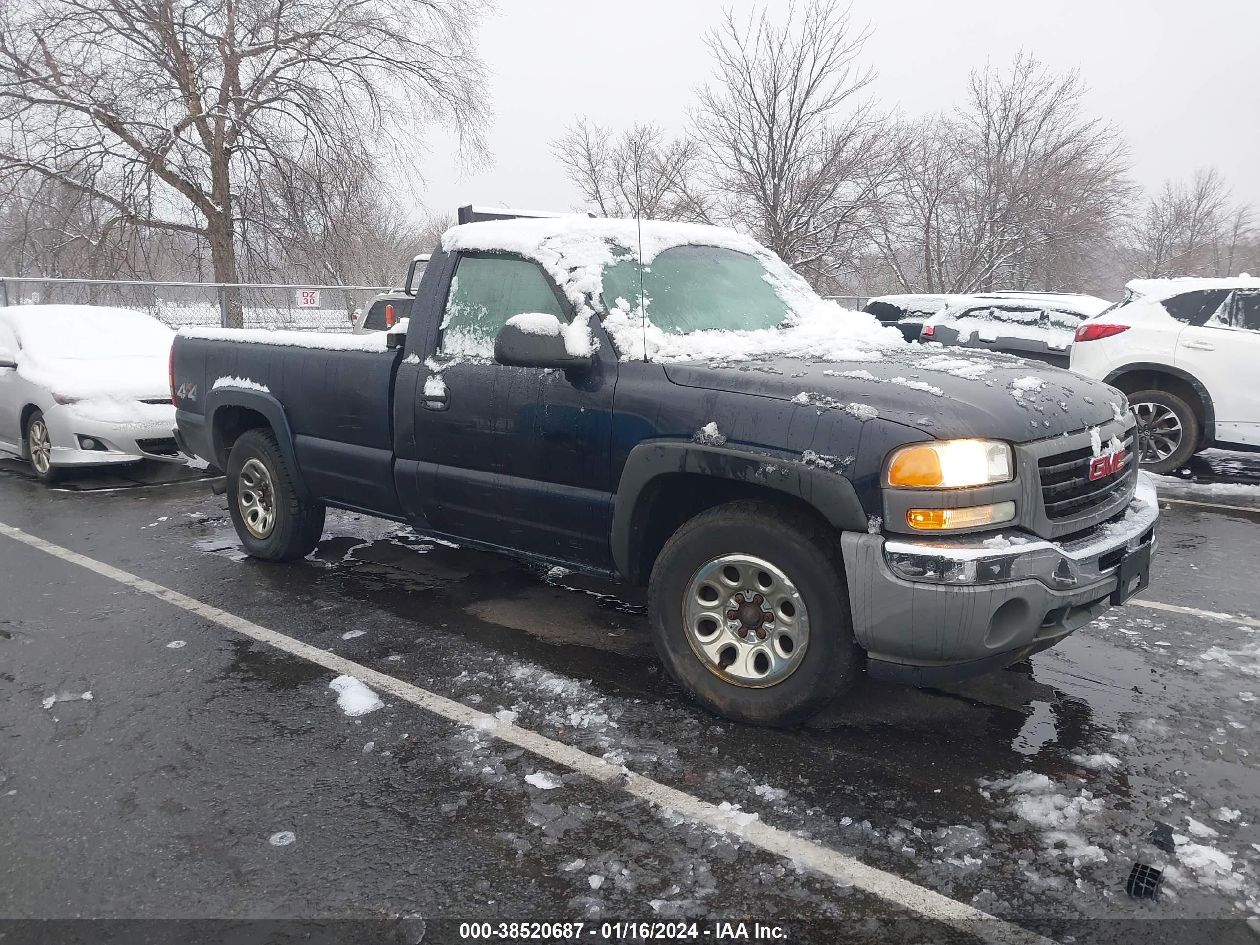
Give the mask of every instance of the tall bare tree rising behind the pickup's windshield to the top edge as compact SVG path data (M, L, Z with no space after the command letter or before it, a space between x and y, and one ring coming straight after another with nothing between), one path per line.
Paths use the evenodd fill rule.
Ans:
M722 215L825 287L869 244L896 163L887 122L858 101L874 78L858 64L869 30L822 0L784 16L727 13L692 120Z

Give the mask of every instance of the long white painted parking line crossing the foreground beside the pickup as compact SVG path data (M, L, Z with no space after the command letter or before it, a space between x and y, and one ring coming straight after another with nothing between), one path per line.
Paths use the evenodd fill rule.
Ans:
M413 706L420 706L451 722L484 731L486 735L525 748L557 765L580 771L596 781L615 785L651 804L670 808L714 830L736 834L755 847L785 857L794 863L806 866L840 885L853 886L895 906L917 912L932 921L974 934L984 941L1018 945L1053 945L1051 939L1021 929L1017 925L990 916L988 912L982 912L965 903L956 902L948 896L941 896L939 892L917 886L908 879L902 879L895 873L867 866L853 857L796 837L788 830L780 830L761 820L753 820L740 827L735 823L731 811L721 810L717 805L709 804L706 800L669 788L650 777L636 775L624 767L609 765L602 759L597 759L563 742L547 738L528 728L504 724L491 714L469 708L462 703L447 699L445 696L438 696L428 689L421 689L418 685L404 683L392 675L386 675L369 667L338 656L335 653L321 650L301 640L295 640L275 630L268 630L244 617L238 617L226 610L203 604L194 597L173 591L169 587L163 587L159 583L137 577L96 558L89 558L86 554L63 548L59 544L53 544L4 523L0 523L0 534L6 534L24 544L29 544L32 548L38 548L63 561L84 567L88 571L94 571L127 587L144 591L159 600L174 604L176 607L183 607L192 614L213 621L219 626L234 630L238 634L243 634L301 659L310 660L334 673L353 675L355 679L360 679Z

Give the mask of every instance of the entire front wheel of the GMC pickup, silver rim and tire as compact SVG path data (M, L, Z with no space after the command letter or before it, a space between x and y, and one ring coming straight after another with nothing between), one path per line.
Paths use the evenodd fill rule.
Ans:
M795 509L701 513L665 543L648 595L665 668L726 718L803 722L859 672L837 533Z

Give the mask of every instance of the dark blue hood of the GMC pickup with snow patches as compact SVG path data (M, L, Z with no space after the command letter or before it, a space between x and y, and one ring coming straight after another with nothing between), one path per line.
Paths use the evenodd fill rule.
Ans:
M775 358L664 365L675 384L876 416L926 437L1045 440L1123 418L1124 394L1101 381L988 352L905 346L879 360Z

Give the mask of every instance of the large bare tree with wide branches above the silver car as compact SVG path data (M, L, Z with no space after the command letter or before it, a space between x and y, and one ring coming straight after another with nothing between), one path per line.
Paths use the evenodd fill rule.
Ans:
M480 10L481 0L11 0L0 6L0 174L91 198L110 212L102 232L204 239L214 278L236 282L239 224L268 176L316 185L413 154L420 136L403 120L441 122L466 155L484 155Z

